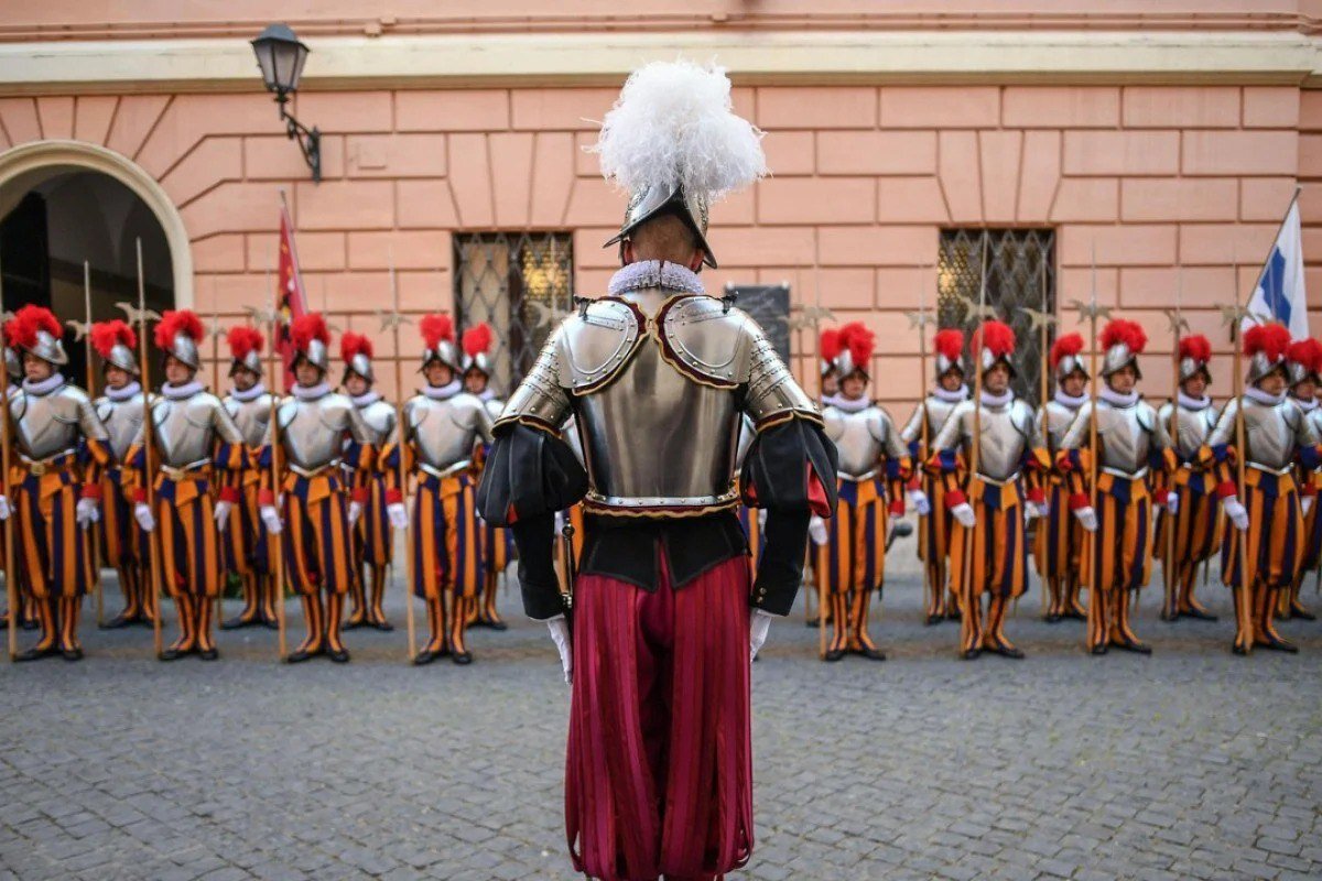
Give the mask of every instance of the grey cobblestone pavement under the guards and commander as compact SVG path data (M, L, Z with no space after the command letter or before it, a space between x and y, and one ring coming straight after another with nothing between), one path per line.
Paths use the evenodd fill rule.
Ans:
M818 663L801 608L772 627L738 877L1322 873L1322 623L1285 625L1298 656L1243 660L1227 619L1162 623L1150 593L1155 655L1095 659L1034 593L1009 625L1029 659L966 663L954 625L917 622L916 579L894 581L886 663ZM350 634L348 667L279 666L270 631L165 666L149 631L91 629L81 664L0 664L0 878L574 877L567 689L516 605L469 668L405 666L402 627Z

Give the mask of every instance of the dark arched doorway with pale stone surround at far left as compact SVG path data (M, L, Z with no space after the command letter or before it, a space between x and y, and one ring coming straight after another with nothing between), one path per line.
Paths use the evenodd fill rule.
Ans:
M5 309L36 302L62 321L82 322L87 262L93 321L123 317L115 304L137 302L137 239L148 308L160 312L190 302L192 260L182 222L141 169L79 141L41 141L0 155ZM66 374L82 384L85 343L75 341L73 329L65 334L65 349Z

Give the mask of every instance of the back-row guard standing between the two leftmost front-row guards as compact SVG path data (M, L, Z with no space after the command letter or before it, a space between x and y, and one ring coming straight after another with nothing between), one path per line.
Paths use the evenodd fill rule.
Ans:
M97 399L97 416L110 435L111 462L100 470L100 553L119 575L124 609L102 625L118 630L152 623L151 600L140 553L141 531L134 520L134 501L124 491L128 449L143 427L143 387L135 351L137 334L123 321L102 321L91 328L91 346L102 358L106 394Z

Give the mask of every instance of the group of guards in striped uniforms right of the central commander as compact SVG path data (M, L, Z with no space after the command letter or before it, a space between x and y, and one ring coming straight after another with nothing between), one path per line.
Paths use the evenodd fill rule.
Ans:
M869 633L870 602L884 582L887 520L907 507L920 519L927 623L970 616L961 627L966 659L1023 658L1006 635L1006 612L1027 589L1030 555L1044 619L1087 621L1095 655L1151 651L1130 609L1154 557L1173 579L1161 617L1215 621L1195 584L1216 553L1235 597L1235 654L1297 650L1276 621L1314 619L1300 588L1322 549L1313 505L1322 481L1322 345L1292 342L1277 325L1249 329L1244 394L1218 409L1207 394L1211 346L1185 337L1178 398L1157 409L1137 390L1146 335L1117 318L1100 335L1096 402L1084 341L1072 333L1051 349L1055 394L1034 411L1010 387L1015 337L1007 325L988 321L974 332L976 366L964 357L961 332L940 330L933 343L936 384L896 428L867 395L873 334L862 324L822 333L822 419L839 460L836 516L810 524L820 614L832 627L825 660L851 652L884 659ZM981 403L970 384L981 388ZM1096 606L1091 616L1084 588Z

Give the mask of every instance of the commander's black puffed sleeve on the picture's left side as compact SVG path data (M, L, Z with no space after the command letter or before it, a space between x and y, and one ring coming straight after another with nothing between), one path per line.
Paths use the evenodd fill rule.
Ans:
M530 618L564 610L553 564L555 512L586 493L587 472L563 440L518 423L497 431L477 486L477 510L492 526L514 534L524 612Z

